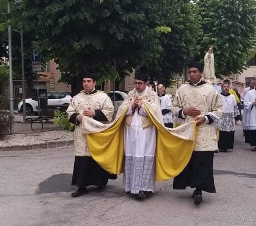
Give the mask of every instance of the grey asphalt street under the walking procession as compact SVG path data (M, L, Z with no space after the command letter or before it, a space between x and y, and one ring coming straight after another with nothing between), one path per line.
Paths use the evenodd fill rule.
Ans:
M192 189L172 190L172 180L137 201L126 195L122 176L104 191L70 196L72 147L0 152L0 226L255 226L256 152L237 125L235 149L214 160L216 194L195 206Z

